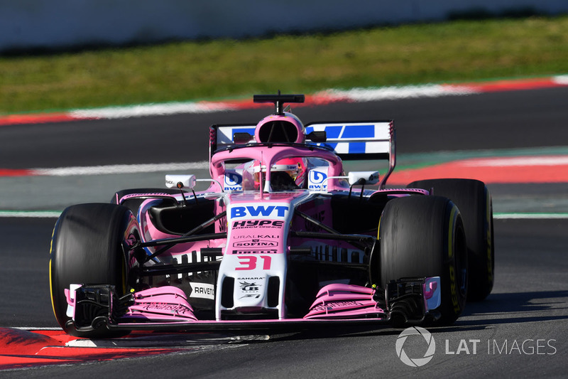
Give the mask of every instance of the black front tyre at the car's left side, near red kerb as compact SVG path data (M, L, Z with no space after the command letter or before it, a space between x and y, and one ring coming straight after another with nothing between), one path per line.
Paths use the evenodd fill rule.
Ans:
M126 241L138 235L136 220L124 206L90 203L63 210L51 240L50 290L55 319L67 333L86 338L116 336L107 328L70 329L65 289L70 284L109 284L115 286L117 296L126 294L129 289Z

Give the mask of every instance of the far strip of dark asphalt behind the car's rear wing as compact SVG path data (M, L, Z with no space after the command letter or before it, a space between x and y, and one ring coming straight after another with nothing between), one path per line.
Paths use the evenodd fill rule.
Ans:
M398 154L565 146L567 87L407 100L293 107L302 122L394 119ZM0 167L93 166L202 161L211 124L256 124L272 112L9 125L1 128Z

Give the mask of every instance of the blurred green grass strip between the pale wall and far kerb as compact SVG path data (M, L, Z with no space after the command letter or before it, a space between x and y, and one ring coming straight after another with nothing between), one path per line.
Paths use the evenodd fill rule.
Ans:
M0 114L568 73L568 16L0 57Z

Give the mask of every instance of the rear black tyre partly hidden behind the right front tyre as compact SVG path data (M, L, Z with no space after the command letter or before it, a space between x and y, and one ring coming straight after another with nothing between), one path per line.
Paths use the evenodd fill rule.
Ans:
M485 299L493 289L495 252L491 193L481 181L432 179L414 181L408 188L433 188L434 195L451 199L464 220L468 250L468 301Z

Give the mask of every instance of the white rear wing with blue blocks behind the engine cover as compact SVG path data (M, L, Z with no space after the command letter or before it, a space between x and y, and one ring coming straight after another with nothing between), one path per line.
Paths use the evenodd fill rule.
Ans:
M209 160L213 153L224 147L236 146L235 133L254 135L256 125L226 124L213 125L209 128ZM396 164L395 128L393 121L370 122L312 122L305 126L305 134L326 132L326 142L307 142L333 149L344 161L351 160L388 160L388 172L379 186L382 188ZM249 143L254 143L251 139Z

